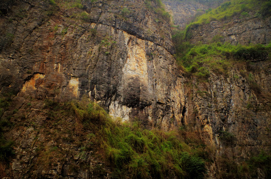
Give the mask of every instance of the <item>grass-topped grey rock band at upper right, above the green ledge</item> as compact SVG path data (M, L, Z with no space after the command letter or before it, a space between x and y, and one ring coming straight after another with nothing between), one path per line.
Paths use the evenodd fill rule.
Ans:
M219 36L233 45L268 44L271 18L268 1L229 1L198 17L187 27L192 43L207 43Z

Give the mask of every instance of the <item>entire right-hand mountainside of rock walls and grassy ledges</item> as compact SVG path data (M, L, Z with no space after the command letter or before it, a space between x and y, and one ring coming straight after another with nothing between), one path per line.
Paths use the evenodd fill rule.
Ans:
M268 178L270 173L263 167L270 164L270 157L262 169L249 163L271 150L271 47L233 46L269 43L270 16L242 15L261 9L250 11L254 3L262 1L224 3L174 35L177 60L187 71L189 82L188 115L195 116L186 126L202 130L217 146L214 178ZM242 11L240 6L248 8ZM236 38L231 38L233 35ZM245 166L247 172L238 165Z

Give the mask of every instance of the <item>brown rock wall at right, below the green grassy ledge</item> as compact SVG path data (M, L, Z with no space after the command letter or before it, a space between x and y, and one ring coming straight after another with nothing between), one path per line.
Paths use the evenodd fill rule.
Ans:
M242 165L260 151L271 150L270 65L270 61L250 62L227 76L211 72L209 83L192 83L188 116L195 119L186 125L198 128L206 141L217 146L216 162L210 168L213 178L239 178L235 168L232 174L227 172L230 163ZM224 138L223 131L233 136ZM266 178L263 173L258 170L256 175Z

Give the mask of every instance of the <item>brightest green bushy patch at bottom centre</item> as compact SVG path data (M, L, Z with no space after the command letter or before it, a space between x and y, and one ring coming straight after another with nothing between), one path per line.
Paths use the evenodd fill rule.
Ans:
M191 156L191 149L185 150L187 144L174 133L143 130L137 123L130 126L111 123L105 132L106 154L121 175L132 178L176 175L201 179L206 171L203 160Z

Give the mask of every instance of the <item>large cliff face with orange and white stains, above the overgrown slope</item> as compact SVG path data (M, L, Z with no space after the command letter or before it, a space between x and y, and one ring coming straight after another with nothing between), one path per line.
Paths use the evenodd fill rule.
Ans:
M150 125L169 128L175 117L177 124L183 78L169 24L144 1L83 5L16 1L1 17L1 90L38 99L86 95L124 120L140 113Z

